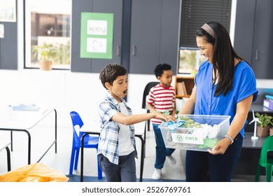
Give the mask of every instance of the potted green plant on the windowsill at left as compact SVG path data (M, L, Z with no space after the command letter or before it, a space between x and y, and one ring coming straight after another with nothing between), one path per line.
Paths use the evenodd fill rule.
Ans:
M34 52L34 57L38 59L41 70L51 70L52 61L57 55L57 48L48 43L43 45L31 45L31 50Z

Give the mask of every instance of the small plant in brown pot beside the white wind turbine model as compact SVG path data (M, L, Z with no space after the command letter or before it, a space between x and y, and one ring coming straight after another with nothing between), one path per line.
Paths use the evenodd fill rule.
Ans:
M258 137L267 137L269 134L269 125L273 125L272 116L268 116L267 113L260 114L255 113L260 120L260 123L257 124L257 135Z

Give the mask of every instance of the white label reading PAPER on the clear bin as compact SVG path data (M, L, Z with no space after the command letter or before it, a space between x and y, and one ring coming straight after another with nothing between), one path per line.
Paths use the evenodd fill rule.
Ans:
M197 134L172 133L172 141L182 144L204 144L203 137Z

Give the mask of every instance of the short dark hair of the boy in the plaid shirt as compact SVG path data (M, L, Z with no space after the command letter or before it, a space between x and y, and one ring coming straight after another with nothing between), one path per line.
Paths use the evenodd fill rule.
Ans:
M125 76L127 74L127 69L120 64L107 64L99 73L99 79L102 85L106 88L105 83L113 85L113 81L118 78L118 76ZM107 89L107 88L106 88Z

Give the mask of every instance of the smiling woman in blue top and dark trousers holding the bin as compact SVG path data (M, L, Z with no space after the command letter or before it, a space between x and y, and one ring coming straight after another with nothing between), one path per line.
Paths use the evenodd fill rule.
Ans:
M187 151L186 181L231 181L244 139L251 103L257 99L251 66L232 47L228 31L218 22L196 32L197 46L207 61L200 65L190 99L179 114L228 115L230 128L207 152Z

